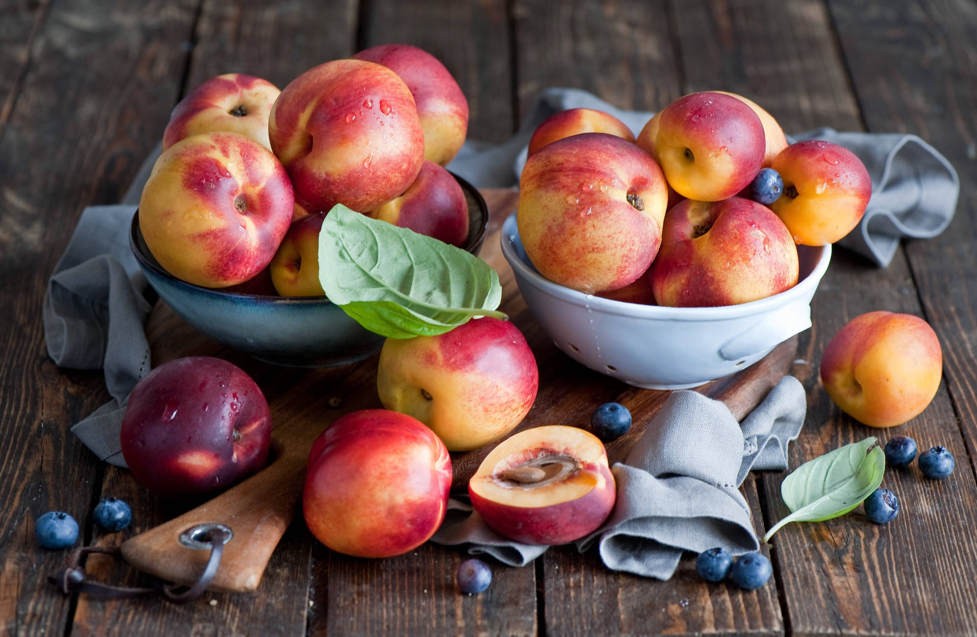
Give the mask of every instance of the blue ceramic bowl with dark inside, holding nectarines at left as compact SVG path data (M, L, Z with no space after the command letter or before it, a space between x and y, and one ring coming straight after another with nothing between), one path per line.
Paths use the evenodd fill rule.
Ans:
M468 199L470 217L464 248L478 254L488 228L482 194L454 176ZM193 285L163 270L132 218L129 244L149 285L177 315L204 334L261 361L298 367L323 367L361 361L383 345L374 334L324 296L285 298L242 294Z

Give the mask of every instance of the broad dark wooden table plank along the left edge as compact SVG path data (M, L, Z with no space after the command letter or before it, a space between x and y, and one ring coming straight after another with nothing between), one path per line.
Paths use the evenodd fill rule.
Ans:
M192 13L187 2L66 0L33 36L11 103L0 140L0 633L64 634L70 618L71 598L45 580L64 553L37 547L33 521L62 509L87 539L102 463L68 428L106 392L101 373L47 359L42 294L81 208L116 200L154 144L145 122L176 97Z

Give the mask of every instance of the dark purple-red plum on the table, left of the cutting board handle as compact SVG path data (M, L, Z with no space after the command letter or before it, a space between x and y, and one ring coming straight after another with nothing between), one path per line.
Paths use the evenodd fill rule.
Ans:
M166 496L228 488L268 462L272 418L251 377L228 361L163 363L129 396L122 456L136 480Z

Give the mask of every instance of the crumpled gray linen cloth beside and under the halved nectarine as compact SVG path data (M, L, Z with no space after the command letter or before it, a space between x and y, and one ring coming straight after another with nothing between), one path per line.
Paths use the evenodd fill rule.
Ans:
M683 551L721 546L734 555L759 548L739 487L750 470L784 470L786 446L804 423L807 400L786 376L745 419L697 392L672 392L614 472L617 500L598 531L576 542L598 546L615 571L668 579ZM488 529L471 506L452 500L432 541L467 544L510 566L525 566L547 547L513 542Z

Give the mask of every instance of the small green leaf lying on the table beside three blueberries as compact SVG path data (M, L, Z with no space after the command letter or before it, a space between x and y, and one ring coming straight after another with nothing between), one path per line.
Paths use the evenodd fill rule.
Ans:
M763 536L791 522L823 522L845 515L882 484L885 452L875 438L834 449L784 479L781 496L791 513Z

